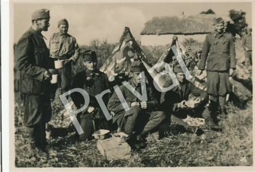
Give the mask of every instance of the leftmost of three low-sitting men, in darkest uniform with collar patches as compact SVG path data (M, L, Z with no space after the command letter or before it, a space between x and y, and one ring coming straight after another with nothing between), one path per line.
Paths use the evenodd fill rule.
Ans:
M89 106L78 115L78 121L84 133L79 135L80 141L86 141L91 138L93 132L97 129L110 129L110 121L107 121L100 109L95 95L109 89L106 74L100 72L97 68L97 56L94 51L85 51L83 63L86 67L84 71L75 75L72 88L82 88L90 95ZM103 96L105 105L109 100L109 95ZM77 108L83 107L84 97L78 92L71 94L71 99Z

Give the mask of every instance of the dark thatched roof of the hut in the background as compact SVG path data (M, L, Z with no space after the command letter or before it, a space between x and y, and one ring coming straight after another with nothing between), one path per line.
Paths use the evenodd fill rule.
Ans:
M211 33L216 15L160 16L149 20L140 35L192 35ZM222 16L221 16L222 17ZM224 20L227 20L224 18Z

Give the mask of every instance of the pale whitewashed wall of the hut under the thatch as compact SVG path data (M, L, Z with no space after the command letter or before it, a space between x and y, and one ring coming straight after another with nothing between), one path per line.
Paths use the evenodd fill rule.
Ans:
M186 38L192 38L198 40L198 42L204 42L207 34L197 34L197 35L175 35L178 37L180 43L182 43ZM141 42L142 45L166 45L172 42L172 37L174 35L142 35Z

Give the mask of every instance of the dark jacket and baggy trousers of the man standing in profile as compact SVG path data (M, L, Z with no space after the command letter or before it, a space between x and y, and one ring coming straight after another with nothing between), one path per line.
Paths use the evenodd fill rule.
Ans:
M15 53L19 72L18 90L24 94L24 125L33 126L51 118L50 81L44 72L53 66L49 50L40 32L30 28L19 39Z

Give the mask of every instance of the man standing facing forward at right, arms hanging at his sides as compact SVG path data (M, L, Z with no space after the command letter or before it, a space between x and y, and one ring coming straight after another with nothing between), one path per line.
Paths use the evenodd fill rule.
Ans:
M231 33L224 31L222 18L214 20L214 27L215 31L206 36L198 75L203 72L207 62L207 92L210 95L212 113L215 114L219 105L220 113L226 114L226 95L230 92L229 77L233 75L236 65L235 45Z

